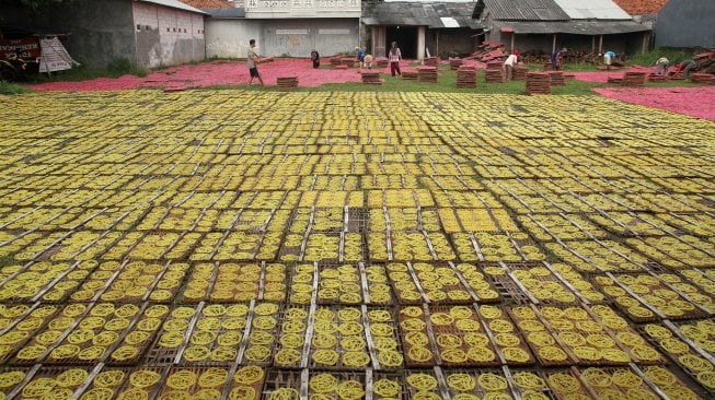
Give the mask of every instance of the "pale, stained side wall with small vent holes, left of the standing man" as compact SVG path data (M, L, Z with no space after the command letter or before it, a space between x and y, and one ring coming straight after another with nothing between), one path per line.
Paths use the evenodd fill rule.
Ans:
M204 15L134 2L137 63L154 68L206 57Z

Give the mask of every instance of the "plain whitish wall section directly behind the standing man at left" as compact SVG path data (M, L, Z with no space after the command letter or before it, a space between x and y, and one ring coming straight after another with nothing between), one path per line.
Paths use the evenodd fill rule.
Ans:
M206 20L206 57L245 58L249 40L261 45L261 21ZM262 49L258 48L258 54Z

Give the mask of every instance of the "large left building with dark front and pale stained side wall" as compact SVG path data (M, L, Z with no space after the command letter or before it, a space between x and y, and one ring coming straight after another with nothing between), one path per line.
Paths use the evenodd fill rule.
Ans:
M74 0L43 15L3 4L0 13L68 33L62 44L90 68L106 68L117 59L154 68L206 56L204 12L178 0Z

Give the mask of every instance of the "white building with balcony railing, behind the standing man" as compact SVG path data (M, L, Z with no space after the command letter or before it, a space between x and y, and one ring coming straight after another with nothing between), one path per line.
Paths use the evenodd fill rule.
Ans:
M197 1L183 0L188 4ZM250 39L262 56L350 52L359 43L359 0L245 0L204 9L208 57L243 58Z

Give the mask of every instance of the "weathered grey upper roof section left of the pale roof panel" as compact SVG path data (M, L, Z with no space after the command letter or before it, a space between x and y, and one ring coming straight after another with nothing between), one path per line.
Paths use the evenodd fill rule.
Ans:
M554 0L477 0L475 10L486 7L495 20L566 21L568 15Z

